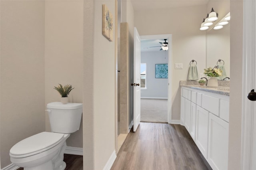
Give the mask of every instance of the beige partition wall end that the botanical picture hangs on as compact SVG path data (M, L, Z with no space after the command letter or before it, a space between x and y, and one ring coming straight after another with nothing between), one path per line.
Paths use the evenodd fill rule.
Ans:
M84 1L83 6L83 163L88 170L103 169L115 151L115 39L102 35L102 4L115 28L115 1Z

